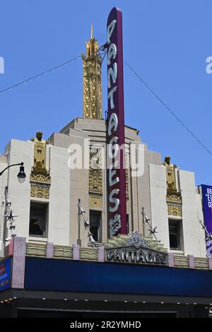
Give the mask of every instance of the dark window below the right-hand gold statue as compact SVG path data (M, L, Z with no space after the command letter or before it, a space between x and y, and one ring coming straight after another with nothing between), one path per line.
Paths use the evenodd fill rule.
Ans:
M182 220L169 219L170 249L182 250Z

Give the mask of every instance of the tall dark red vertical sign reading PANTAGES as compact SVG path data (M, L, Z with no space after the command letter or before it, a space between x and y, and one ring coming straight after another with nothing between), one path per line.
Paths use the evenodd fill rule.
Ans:
M110 237L126 234L122 11L107 19L107 190Z

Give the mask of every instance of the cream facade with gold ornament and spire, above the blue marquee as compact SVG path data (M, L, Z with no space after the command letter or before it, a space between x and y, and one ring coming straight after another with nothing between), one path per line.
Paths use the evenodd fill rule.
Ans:
M5 241L11 230L4 216L9 202L18 215L16 239L24 239L27 267L27 259L32 257L104 262L107 246L123 244L135 235L151 248L168 253L170 268L211 269L202 227L201 192L195 185L194 172L180 170L170 162L170 156L161 158L160 153L148 150L139 130L129 126L125 126L126 165L134 144L136 153L139 146L144 151L144 169L141 176L132 177L131 168L126 167L129 235L110 236L107 170L101 167L106 163L107 133L107 120L102 119L101 64L98 42L91 35L83 55L83 117L73 119L48 139L42 131L28 141L11 139L1 154L0 169L23 161L27 174L21 185L15 167L0 177L1 250L10 243ZM70 168L73 145L81 148L84 166L88 156L86 167ZM96 248L92 247L83 218L90 223ZM27 276L25 280L29 281ZM16 282L13 280L13 288L24 287Z

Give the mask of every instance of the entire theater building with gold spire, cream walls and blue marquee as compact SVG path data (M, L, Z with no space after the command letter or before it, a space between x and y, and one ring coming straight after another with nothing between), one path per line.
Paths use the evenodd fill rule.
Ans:
M119 198L108 182L110 113L103 118L98 49L92 32L83 55L82 117L48 139L42 131L11 139L0 155L0 170L23 161L26 174L23 184L16 167L0 177L0 316L208 316L212 259L202 186L126 125L125 231L123 211L110 215ZM139 151L135 171L130 160L139 160Z

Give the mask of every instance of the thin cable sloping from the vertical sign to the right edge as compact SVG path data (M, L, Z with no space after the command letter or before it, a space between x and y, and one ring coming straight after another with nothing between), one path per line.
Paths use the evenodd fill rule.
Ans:
M143 79L141 78L141 76L139 76L139 74L138 73L136 73L136 71L134 71L134 69L132 69L131 68L131 66L129 66L129 64L124 60L124 63L126 64L126 66L128 66L128 68L135 74L135 76L137 77L137 78L139 78L139 80L143 83L143 85L145 85L146 86L146 88L148 88L148 90L153 94L153 96L160 102L160 104L162 104L164 107L165 107L165 109L167 109L167 111L168 112L170 112L170 114L172 114L172 117L175 117L175 119L179 122L179 124L181 124L183 127L184 127L184 129L186 129L188 132L189 132L189 134L191 134L192 136L193 136L193 138L207 151L207 153L209 153L209 155L211 155L211 157L212 157L212 153L211 153L211 151L210 150L208 150L208 148L206 148L206 146L204 145L204 143L202 143L200 140L199 140L199 138L197 138L196 137L196 135L194 135L194 133L188 128L188 126L186 125L186 124L184 124L184 122L181 120L181 119L179 119L179 117L177 117L177 115L174 113L174 112L172 112L172 110L170 109L170 107L168 107L166 104L165 104L165 102L163 102L163 100L158 96L158 94L157 93L155 93L154 91L153 91L153 89L145 82L145 81L143 81Z

